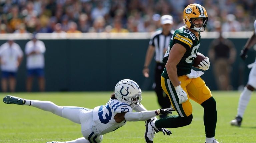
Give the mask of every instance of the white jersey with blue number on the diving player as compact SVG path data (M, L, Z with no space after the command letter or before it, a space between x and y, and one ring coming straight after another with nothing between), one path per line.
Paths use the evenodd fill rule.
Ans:
M105 106L95 107L93 109L93 121L95 122L95 128L93 130L95 134L104 135L125 125L126 121L117 123L114 119L117 113L122 112L132 112L132 107L117 99L110 99Z

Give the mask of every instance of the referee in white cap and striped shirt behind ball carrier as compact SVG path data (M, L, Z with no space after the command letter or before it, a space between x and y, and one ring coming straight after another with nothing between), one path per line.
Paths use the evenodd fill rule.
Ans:
M149 46L147 49L143 75L148 78L149 77L149 64L151 63L152 57L155 53L155 83L154 90L157 95L157 100L161 108L170 108L171 102L169 101L168 96L164 93L161 87L161 75L163 73L165 64L162 62L164 54L169 46L169 42L173 35L173 31L171 31L173 25L173 19L170 15L164 15L161 17L161 30L156 31L149 41ZM160 116L165 117L166 115Z

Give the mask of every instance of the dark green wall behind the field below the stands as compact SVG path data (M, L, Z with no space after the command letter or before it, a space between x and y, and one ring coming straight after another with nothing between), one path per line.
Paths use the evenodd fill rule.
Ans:
M231 39L238 54L247 39ZM28 40L16 40L22 47ZM111 91L115 84L128 78L136 81L142 90L152 90L154 62L150 65L150 78L144 78L142 68L149 39L58 39L42 40L46 45L46 91ZM212 39L203 39L199 51L207 55ZM0 40L0 44L6 40ZM231 74L235 89L246 84L247 64L254 62L255 52L243 62L237 55ZM17 74L16 91L25 91L26 56ZM240 67L240 68L239 68ZM242 69L242 70L239 70ZM239 71L243 71L240 73ZM242 79L240 79L242 77ZM212 70L202 76L211 90L216 90ZM38 91L34 80L33 91Z

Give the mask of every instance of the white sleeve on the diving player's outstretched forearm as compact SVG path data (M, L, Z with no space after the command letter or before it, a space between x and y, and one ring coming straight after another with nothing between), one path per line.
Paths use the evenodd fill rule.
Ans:
M126 121L145 121L156 116L155 111L127 112L124 115Z

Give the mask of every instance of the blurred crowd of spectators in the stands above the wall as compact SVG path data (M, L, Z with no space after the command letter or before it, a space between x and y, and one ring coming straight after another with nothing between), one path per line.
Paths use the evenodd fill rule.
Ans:
M206 8L206 31L253 31L255 0L1 0L0 33L153 32L165 14L176 29L190 3Z

